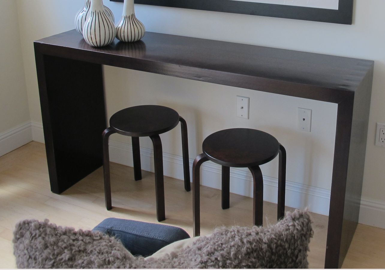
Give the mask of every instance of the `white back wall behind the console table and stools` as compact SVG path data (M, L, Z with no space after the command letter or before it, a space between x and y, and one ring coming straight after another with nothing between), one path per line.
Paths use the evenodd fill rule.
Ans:
M41 123L41 113L32 42L73 29L74 15L83 3L84 0L17 0L29 110L35 127ZM112 9L116 18L120 17L122 3L106 0L104 3ZM375 123L385 123L385 114L382 113L385 100L382 91L382 74L385 71L383 10L385 1L356 0L353 25L338 25L136 5L137 18L144 23L147 31L375 60L360 222L385 228L385 198L382 196L385 183L381 181L385 173L385 149L374 146ZM104 72L107 116L121 108L139 104L175 108L189 127L191 160L201 152L203 139L217 130L250 127L271 133L288 152L289 205L310 205L311 210L327 214L335 104L114 67L105 67ZM250 97L249 120L235 116L236 95ZM297 107L313 110L311 133L296 130ZM41 140L41 127L35 131L34 140ZM179 129L162 135L165 173L174 177L181 175L181 166L177 164L181 155L179 140ZM141 142L143 158L150 162L151 150L148 149L152 148L151 142L146 138ZM111 137L110 144L111 159L127 163L129 140L116 135ZM277 163L274 160L261 168L268 183L265 189L268 200L274 200ZM232 181L232 191L250 195L250 175L245 170L234 171L232 175L239 181L238 185ZM218 187L218 168L207 165L203 179L205 185Z

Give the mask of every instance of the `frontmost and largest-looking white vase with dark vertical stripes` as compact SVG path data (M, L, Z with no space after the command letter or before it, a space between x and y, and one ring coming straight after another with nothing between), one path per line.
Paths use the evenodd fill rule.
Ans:
M85 42L94 47L103 47L112 43L116 31L114 22L104 10L102 0L91 0L90 14L83 25Z

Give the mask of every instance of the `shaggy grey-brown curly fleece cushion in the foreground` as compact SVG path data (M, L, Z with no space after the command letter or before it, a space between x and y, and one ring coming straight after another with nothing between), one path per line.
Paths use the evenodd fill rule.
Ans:
M296 210L271 227L217 228L179 252L145 259L100 232L24 220L13 247L18 268L307 268L312 235L308 213Z

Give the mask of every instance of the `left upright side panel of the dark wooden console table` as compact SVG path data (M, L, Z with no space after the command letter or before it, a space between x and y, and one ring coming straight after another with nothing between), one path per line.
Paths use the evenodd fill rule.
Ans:
M102 66L35 52L51 191L102 166Z

